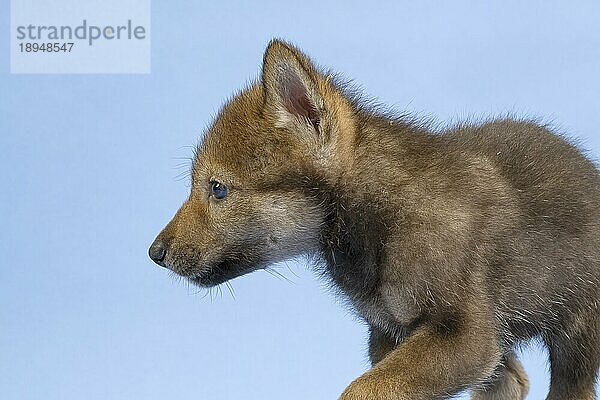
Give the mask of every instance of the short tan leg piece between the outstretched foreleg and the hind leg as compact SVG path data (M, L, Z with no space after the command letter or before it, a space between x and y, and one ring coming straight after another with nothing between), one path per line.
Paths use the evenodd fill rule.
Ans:
M494 376L472 391L471 400L523 400L528 391L527 374L516 356L510 353L504 356Z

